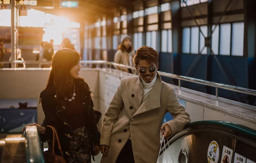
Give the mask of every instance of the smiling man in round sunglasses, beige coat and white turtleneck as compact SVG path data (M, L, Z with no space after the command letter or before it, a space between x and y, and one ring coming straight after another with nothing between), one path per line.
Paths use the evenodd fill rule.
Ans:
M101 163L156 163L160 130L169 138L190 122L175 88L162 82L157 73L157 51L142 46L134 62L139 76L121 80L104 115ZM161 126L166 112L173 120Z

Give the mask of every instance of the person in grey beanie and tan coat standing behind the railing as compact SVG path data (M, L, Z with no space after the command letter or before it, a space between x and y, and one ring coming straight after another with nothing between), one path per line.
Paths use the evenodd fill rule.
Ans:
M119 45L118 50L115 53L114 62L133 67L135 65L133 61L134 55L135 52L131 45L131 37L125 36L122 38L121 44ZM121 67L116 66L116 69L121 70ZM133 73L132 70L128 68L122 68L122 70L125 72Z

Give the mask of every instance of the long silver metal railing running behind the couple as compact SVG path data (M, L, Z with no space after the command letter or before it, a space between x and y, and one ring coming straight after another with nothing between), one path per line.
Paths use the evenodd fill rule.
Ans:
M51 64L51 62L40 62L40 61L3 61L0 63L25 63L25 64L40 64L40 63L44 63L44 64ZM121 76L123 76L123 70L122 68L130 68L132 70L136 70L134 67L128 66L128 65L122 65L122 64L117 64L114 62L108 62L108 61L80 61L80 64L96 64L97 67L99 67L99 65L110 65L110 70L111 70L111 66L119 66L121 67ZM111 70L112 71L112 70ZM234 92L239 92L239 93L244 93L247 95L253 95L256 96L256 90L250 90L247 88L243 88L243 87L237 87L237 86L233 86L233 85L227 85L227 84L221 84L221 83L215 83L215 82L210 82L210 81L205 81L205 80L201 80L201 79L196 79L196 78L191 78L191 77L187 77L187 76L179 76L179 75L175 75L172 73L165 73L165 72L161 72L161 71L157 71L161 76L166 76L166 77L170 77L173 79L178 79L178 89L180 90L180 84L181 81L187 81L187 82L192 82L192 83L197 83L197 84L202 84L202 85L207 85L210 87L215 87L216 89L216 93L215 93L215 100L218 100L218 88L224 89L224 90L231 90ZM136 71L134 71L134 74L136 73Z

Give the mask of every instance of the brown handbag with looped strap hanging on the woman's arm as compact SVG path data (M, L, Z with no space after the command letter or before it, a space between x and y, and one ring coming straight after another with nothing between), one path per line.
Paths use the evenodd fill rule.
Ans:
M61 144L60 144L60 141L58 139L58 134L57 134L55 128L53 126L48 126L48 127L51 127L51 129L52 129L53 138L52 138L52 145L50 144L49 141L47 141L47 143L48 143L48 150L44 152L44 160L45 160L45 162L46 163L67 163L66 160L63 157L63 152L61 150ZM61 153L61 156L55 155L55 151L54 151L55 138L57 139L58 150Z

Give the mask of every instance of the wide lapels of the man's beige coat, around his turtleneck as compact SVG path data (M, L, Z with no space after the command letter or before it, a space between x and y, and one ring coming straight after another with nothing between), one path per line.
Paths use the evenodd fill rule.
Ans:
M141 87L142 96L143 96L143 86L142 86L140 77L138 78L138 80L140 80L138 85L141 84L139 87ZM134 113L134 115L132 117L134 117L138 114L141 114L143 112L159 108L161 106L160 105L161 88L162 88L162 79L161 79L160 75L157 73L157 81L154 84L154 87L152 88L152 90L150 91L148 96L145 98L143 103L140 105L139 109ZM140 91L140 89L139 89L139 91Z

